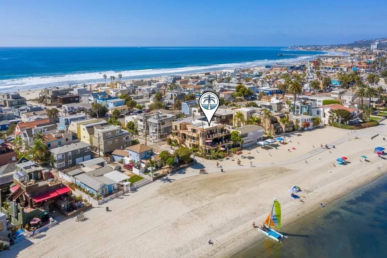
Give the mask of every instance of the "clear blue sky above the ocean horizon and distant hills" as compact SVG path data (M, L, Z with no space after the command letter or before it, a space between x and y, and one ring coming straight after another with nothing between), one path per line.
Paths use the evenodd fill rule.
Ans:
M0 46L292 46L387 37L387 1L2 1Z

